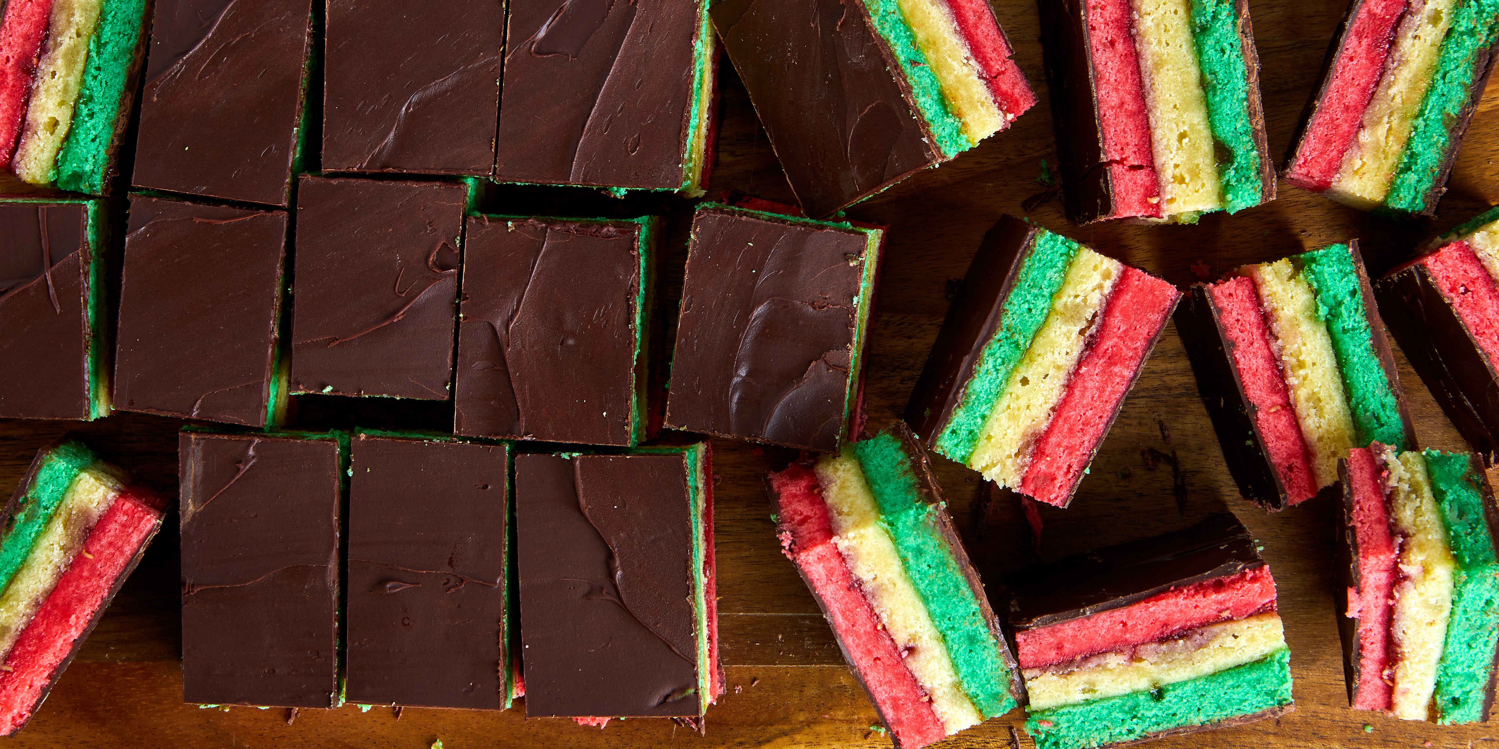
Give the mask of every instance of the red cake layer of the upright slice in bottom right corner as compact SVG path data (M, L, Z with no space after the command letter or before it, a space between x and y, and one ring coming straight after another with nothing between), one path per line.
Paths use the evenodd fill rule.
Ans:
M1384 470L1370 448L1348 455L1348 482L1354 490L1354 538L1358 541L1358 584L1348 589L1348 616L1358 619L1358 683L1354 704L1360 710L1388 710L1390 602L1394 599L1396 545L1385 508Z

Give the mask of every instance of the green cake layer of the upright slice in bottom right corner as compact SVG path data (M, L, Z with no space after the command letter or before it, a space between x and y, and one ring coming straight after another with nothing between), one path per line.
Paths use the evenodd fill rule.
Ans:
M1499 560L1489 536L1481 479L1474 475L1472 457L1435 449L1423 455L1457 563L1453 613L1436 673L1438 722L1471 724L1484 719L1484 694L1493 673L1499 638Z

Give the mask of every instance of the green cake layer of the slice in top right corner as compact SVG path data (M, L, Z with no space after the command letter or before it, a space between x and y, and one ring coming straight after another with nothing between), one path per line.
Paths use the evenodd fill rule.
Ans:
M1499 0L1466 0L1453 15L1453 25L1442 40L1436 76L1421 100L1411 139L1400 156L1385 205L1402 211L1427 210L1427 196L1436 184L1453 148L1451 127L1474 96L1474 64L1499 36Z

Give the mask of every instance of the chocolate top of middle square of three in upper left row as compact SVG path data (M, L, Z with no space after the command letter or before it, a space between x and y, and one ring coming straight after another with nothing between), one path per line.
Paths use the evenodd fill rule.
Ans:
M322 169L487 175L504 1L330 0L327 7Z

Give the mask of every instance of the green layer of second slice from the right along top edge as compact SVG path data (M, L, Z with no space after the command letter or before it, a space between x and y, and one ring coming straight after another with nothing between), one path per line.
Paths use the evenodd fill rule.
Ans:
M1192 36L1198 45L1213 139L1229 153L1229 160L1219 163L1223 208L1235 213L1259 205L1264 192L1259 144L1255 142L1255 124L1249 115L1255 91L1249 87L1244 43L1238 36L1237 3L1193 0Z

